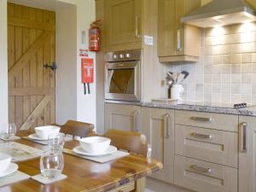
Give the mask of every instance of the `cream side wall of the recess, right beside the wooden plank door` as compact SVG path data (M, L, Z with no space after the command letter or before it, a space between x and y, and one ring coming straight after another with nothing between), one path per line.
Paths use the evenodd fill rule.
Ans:
M56 123L77 119L77 7L57 6Z

